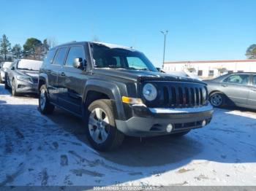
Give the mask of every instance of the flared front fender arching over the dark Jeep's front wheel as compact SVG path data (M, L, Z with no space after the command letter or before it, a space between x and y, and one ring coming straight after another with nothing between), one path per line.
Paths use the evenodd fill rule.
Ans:
M88 96L90 90L108 95L113 103L116 120L125 119L124 107L121 101L121 93L116 84L113 82L105 82L100 79L87 80L85 89L83 90L83 103L85 103L86 97Z

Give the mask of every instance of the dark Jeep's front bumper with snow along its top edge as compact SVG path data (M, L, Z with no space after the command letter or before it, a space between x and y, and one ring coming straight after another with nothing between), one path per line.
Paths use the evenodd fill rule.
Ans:
M185 130L202 128L211 122L213 107L211 104L193 109L149 109L146 106L131 106L132 117L129 120L116 120L116 127L127 136L160 136L179 133ZM173 130L167 133L167 125Z

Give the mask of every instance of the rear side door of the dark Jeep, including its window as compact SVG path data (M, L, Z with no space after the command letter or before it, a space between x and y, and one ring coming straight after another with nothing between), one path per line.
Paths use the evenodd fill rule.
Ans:
M57 50L56 55L53 59L53 62L50 64L46 72L48 74L48 91L50 96L50 101L58 103L58 93L59 87L57 85L58 77L61 71L61 68L64 64L65 58L67 55L67 47L60 47Z

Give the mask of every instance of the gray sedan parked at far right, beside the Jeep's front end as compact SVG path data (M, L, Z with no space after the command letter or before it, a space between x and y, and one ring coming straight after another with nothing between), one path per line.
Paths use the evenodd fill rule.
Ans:
M225 74L205 80L213 106L233 105L256 109L256 73Z

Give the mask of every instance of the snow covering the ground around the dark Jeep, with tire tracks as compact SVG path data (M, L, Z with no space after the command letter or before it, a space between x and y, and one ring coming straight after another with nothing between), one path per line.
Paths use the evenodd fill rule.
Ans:
M211 125L180 139L127 138L89 146L80 119L42 116L37 98L0 85L1 185L256 185L256 113L216 109Z

